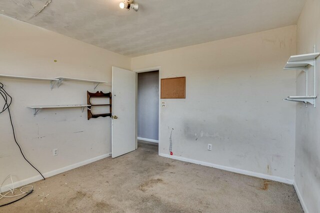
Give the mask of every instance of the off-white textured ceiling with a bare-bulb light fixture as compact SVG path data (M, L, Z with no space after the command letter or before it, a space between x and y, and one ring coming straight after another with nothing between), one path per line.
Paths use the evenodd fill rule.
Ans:
M0 0L0 13L134 57L295 24L305 2L135 0L135 12L120 1Z

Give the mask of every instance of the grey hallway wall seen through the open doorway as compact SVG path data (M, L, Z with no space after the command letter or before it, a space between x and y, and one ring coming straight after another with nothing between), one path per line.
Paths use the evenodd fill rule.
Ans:
M137 137L158 140L159 71L137 74Z

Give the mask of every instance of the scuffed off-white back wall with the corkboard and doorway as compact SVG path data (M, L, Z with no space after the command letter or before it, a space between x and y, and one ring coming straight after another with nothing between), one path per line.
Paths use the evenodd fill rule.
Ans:
M186 99L162 99L160 155L292 183L295 25L132 58L186 76ZM212 144L212 151L207 150ZM249 171L249 172L247 172ZM252 173L253 172L253 173Z

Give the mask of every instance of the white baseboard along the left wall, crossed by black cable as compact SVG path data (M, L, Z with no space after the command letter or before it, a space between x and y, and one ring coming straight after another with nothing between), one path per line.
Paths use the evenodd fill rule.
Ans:
M57 175L57 174L60 174L60 173L75 169L75 168L78 168L80 166L84 166L84 165L92 163L94 161L98 161L98 160L101 160L103 158L107 158L109 156L111 156L111 153L100 155L100 156L97 156L97 157L94 157L94 158L91 158L91 159L88 159L88 160L85 160L85 161L81 161L81 162L78 162L78 163L75 163L75 164L72 164L72 165L69 165L69 166L66 166L66 167L62 167L62 168L57 169L57 170L46 172L46 173L43 173L42 175L44 176L44 178L48 178L48 177L51 177L51 176L54 176L54 175ZM22 187L22 186L25 186L27 184L34 183L34 182L40 181L40 180L42 180L42 177L40 175L37 175L37 176L31 177L31 178L27 178L27 179L24 179L24 180L21 180L21 181L14 182L13 184L14 184L14 188L18 188L18 187ZM12 185L8 184L8 185L6 185L6 187L12 188ZM3 188L3 191L1 191L1 192L8 191L8 189L6 187Z

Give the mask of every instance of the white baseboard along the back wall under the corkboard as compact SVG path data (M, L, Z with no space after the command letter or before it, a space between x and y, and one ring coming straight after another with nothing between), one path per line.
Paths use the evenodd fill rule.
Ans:
M207 163L207 162L203 162L203 161L197 161L197 160L192 160L192 159L188 159L188 158L183 158L183 157L178 157L178 156L173 156L173 155L167 155L167 154L162 154L162 153L160 153L159 156L166 157L166 158L171 158L171 159L175 159L175 160L179 160L179 161L189 162L189 163L193 163L193 164L199 164L199 165L202 165L202 166L212 167L212 168L215 168L215 169L225 170L225 171L229 171L229 172L234 172L234 173L238 173L238 174L242 174L242 175L253 176L253 177L256 177L256 178L262 178L262 179L266 179L266 180L277 181L277 182L290 184L290 185L293 184L293 180L286 179L286 178L281 178L281 177L277 177L277 176L265 175L265 174L262 174L262 173L256 173L256 172L236 169L236 168L232 168L232 167L225 167L225 166L221 166L221 165L217 165L217 164L211 164L211 163Z

